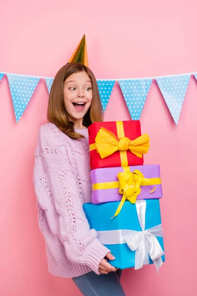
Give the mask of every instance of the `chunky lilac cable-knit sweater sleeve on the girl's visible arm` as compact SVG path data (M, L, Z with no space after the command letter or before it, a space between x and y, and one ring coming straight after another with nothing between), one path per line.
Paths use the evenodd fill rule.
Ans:
M99 274L99 263L110 250L99 242L97 231L90 229L66 145L58 143L55 135L42 130L40 143L41 161L59 219L59 227L51 227L51 230L64 244L68 259L88 265ZM49 215L47 220L49 225L53 224Z

